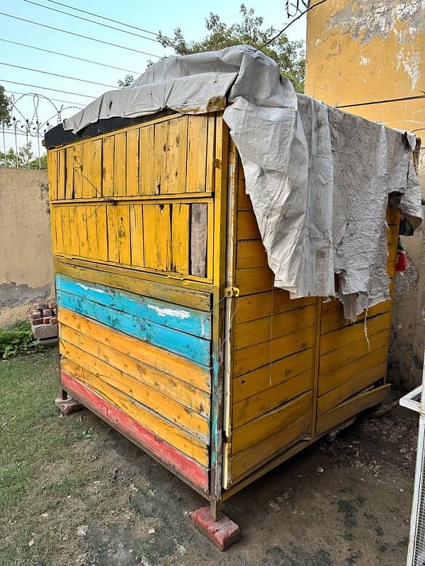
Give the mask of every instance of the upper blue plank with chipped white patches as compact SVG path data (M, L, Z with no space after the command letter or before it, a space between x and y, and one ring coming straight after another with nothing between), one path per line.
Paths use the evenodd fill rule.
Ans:
M64 275L56 275L56 288L180 332L207 340L211 337L210 313L195 308L120 291L107 285L79 281Z

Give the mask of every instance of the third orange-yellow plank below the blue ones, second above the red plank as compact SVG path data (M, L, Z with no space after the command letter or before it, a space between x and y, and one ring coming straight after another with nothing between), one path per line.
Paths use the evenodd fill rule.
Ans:
M61 335L69 335L69 330L67 327L61 328ZM72 342L68 342L65 337L60 338L60 350L64 357L72 360L72 362L79 364L84 369L92 371L95 375L101 376L103 381L106 381L109 385L118 389L130 398L135 399L142 405L145 405L150 410L157 412L158 415L166 418L170 422L173 422L181 429L196 437L198 440L208 443L208 419L199 415L198 412L190 410L187 407L183 407L177 403L173 398L167 397L159 390L155 388L150 388L146 383L137 381L133 376L128 373L124 373L115 368L114 363L115 357L112 352L114 362L105 362L103 354L103 349L99 347L98 351L95 353L87 352L84 346L90 345L91 341L89 338L71 336L79 345L74 345ZM108 352L110 353L110 352ZM96 355L97 354L97 355Z

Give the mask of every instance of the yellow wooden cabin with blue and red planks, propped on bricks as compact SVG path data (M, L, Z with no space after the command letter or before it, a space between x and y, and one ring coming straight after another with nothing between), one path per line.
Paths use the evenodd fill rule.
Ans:
M45 143L62 388L212 516L385 397L391 301L366 340L339 301L273 289L222 113L61 125Z

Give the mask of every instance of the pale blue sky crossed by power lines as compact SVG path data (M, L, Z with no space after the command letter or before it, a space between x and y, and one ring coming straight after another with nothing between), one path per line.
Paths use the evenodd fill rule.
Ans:
M222 21L227 24L239 21L239 1L215 0L213 4L202 0L186 0L183 4L175 0L159 0L157 2L152 0L149 2L140 0L122 0L120 2L110 0L57 1L67 4L67 6L60 5L52 0L13 0L13 2L0 0L0 84L6 89L6 94L13 96L16 100L17 109L13 112L13 115L16 120L20 120L17 129L21 132L25 132L25 120L28 119L34 123L38 120L42 124L40 129L42 133L47 128L45 122L48 121L50 126L58 123L58 110L61 110L60 116L62 118L73 115L103 92L118 88L118 79L123 79L126 74L132 74L135 78L142 74L149 59L156 62L159 57L173 53L172 50L165 50L162 45L154 41L154 35L124 27L111 21L104 21L72 8L90 11L154 33L161 30L164 35L172 35L173 30L179 26L183 31L183 36L188 41L200 40L205 36L205 17L209 15L210 11L217 13ZM47 6L47 8L43 6ZM268 0L266 3L251 0L251 2L246 2L246 6L254 8L257 15L263 16L265 27L273 26L273 28L281 29L289 21L285 11L285 2L282 0ZM302 6L302 2L300 2L300 6ZM58 11L72 13L79 18ZM15 16L15 18L10 16ZM94 42L77 35L69 35L16 18L42 23L51 26L51 28L60 28L79 35L95 37L103 42L113 43L115 46ZM88 18L121 28L125 30L125 33L80 18ZM140 35L145 37L140 37ZM305 16L290 26L287 35L290 40L305 40ZM149 37L152 40L149 40ZM23 45L16 45L16 43L69 54L82 59L91 59L91 61L119 67L120 69L81 62ZM129 47L130 50L116 46ZM12 67L12 65L16 67ZM73 79L50 76L18 67L67 75L73 77ZM76 81L74 79L82 80ZM10 81L15 81L15 83ZM92 81L92 83L86 81ZM67 92L57 92L50 89ZM34 99L33 96L24 96L21 98L23 94L26 95L27 93L38 93L50 98L51 102L42 97ZM35 126L31 131L36 131ZM26 135L18 135L16 139L18 146L26 143L27 140ZM13 134L6 133L6 148L12 146L15 148L16 139ZM38 155L38 151L43 151L42 147L38 147L36 138L30 137L29 139L33 139L35 155ZM4 151L4 139L1 130L0 149Z

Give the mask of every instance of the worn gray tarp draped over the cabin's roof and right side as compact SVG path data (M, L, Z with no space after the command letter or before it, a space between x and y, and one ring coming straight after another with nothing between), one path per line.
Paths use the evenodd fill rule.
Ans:
M225 109L275 287L334 296L339 274L337 294L351 320L389 298L388 195L399 192L401 212L421 221L411 134L297 95L272 59L246 46L164 59L64 128L77 133L100 118L164 108Z

